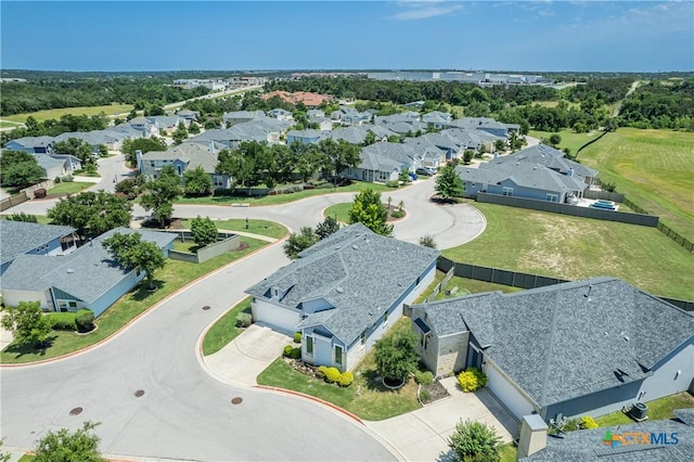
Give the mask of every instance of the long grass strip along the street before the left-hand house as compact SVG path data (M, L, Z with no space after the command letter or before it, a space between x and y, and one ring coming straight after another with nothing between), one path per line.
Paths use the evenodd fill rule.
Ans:
M265 241L248 238L242 238L242 242L247 243L248 247L240 252L219 255L200 265L167 259L166 266L155 274L159 288L154 293L146 290L146 284L133 288L97 318L99 329L92 334L77 335L72 332L52 332L52 345L41 350L10 344L0 352L0 362L3 364L34 362L55 358L93 345L119 331L138 315L146 311L157 301L188 283L268 245Z

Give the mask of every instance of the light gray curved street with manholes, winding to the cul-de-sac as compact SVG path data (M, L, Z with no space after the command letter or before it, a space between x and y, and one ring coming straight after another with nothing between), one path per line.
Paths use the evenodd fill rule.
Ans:
M117 165L117 164L116 164ZM125 167L124 167L125 168ZM105 187L101 183L92 189ZM104 188L105 189L105 188ZM428 202L434 181L387 192L404 202L398 239L430 234L439 247L478 235L484 216L470 205ZM354 194L239 208L179 205L175 215L264 218L292 230L316 226L323 208ZM11 211L44 213L53 201ZM42 211L41 211L42 208ZM136 209L136 215L142 210ZM368 427L313 401L217 382L201 367L201 334L243 291L288 262L281 244L239 260L164 300L105 344L46 364L2 367L1 428L8 447L30 448L47 431L101 422L106 454L185 460L393 460ZM202 310L208 305L209 310ZM136 392L143 390L140 397ZM240 405L231 399L240 397ZM79 415L70 410L82 408Z

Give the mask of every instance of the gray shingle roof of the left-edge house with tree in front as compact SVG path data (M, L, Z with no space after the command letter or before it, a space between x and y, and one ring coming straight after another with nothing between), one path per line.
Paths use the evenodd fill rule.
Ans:
M129 273L101 245L104 239L116 232L139 232L143 240L154 242L159 247L168 245L177 236L174 233L117 228L69 255L21 255L2 275L2 286L29 292L55 287L91 304Z

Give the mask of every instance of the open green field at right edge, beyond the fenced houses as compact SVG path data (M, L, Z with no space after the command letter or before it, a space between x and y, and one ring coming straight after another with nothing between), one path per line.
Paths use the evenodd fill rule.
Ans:
M581 151L579 161L600 170L645 208L694 241L694 133L620 128Z

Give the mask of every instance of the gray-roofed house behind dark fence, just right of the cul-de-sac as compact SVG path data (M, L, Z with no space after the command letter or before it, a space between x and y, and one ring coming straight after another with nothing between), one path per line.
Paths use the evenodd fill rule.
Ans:
M558 203L582 197L597 175L544 144L496 157L477 168L459 166L455 171L465 183L466 197L486 192Z

